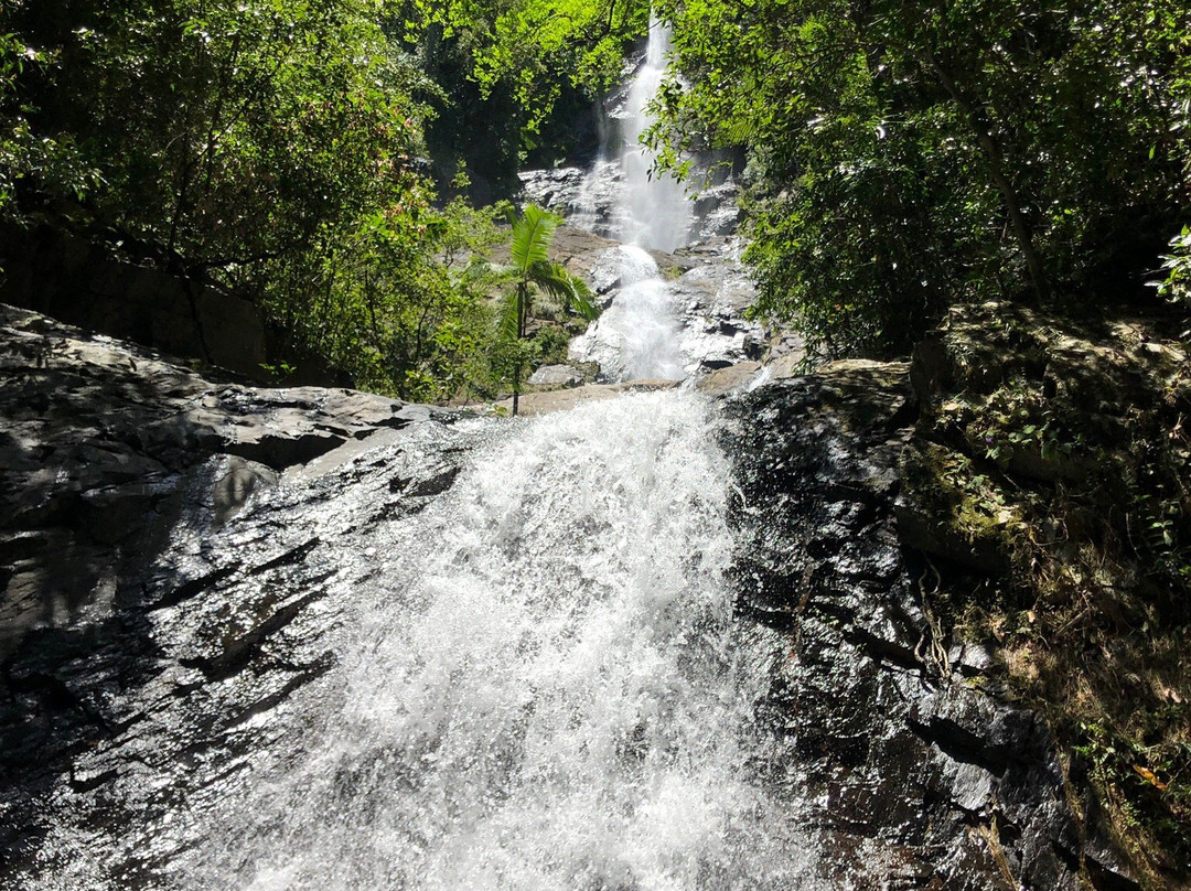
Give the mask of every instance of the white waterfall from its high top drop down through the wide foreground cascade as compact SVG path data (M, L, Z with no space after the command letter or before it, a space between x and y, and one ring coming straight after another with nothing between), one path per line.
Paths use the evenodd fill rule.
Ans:
M661 76L651 35L635 135ZM636 150L623 164L629 238L681 243L679 187ZM619 251L588 339L617 378L684 376L656 262ZM191 886L810 887L791 803L765 780L780 743L754 717L781 643L732 616L709 412L668 392L476 422L451 491L343 555L378 565L299 722L304 754L214 810Z

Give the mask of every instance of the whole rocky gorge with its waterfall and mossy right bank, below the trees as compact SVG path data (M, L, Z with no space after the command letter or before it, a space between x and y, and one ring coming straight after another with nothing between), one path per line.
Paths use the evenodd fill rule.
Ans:
M0 885L1186 887L1170 319L956 306L807 372L731 182L647 194L655 40L523 176L605 309L534 417L0 306ZM182 349L176 297L132 328Z

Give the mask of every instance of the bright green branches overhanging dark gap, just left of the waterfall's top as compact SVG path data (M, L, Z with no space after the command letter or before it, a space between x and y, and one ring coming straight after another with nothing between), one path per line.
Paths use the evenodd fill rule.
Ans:
M491 201L516 194L530 152L548 164L582 144L574 122L619 79L649 4L392 0L385 8L389 30L441 86L428 127L436 176L445 183L463 164L473 197Z

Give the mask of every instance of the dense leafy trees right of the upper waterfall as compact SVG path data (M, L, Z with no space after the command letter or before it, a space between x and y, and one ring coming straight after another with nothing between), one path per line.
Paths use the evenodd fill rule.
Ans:
M748 147L757 310L819 353L899 353L954 300L1134 274L1186 206L1174 0L659 7L682 77L662 163Z

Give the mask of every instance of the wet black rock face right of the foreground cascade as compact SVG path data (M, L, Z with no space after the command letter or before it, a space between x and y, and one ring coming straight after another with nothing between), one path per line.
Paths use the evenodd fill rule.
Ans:
M987 654L940 637L894 519L908 376L841 363L729 404L737 609L790 635L761 705L787 739L774 781L812 803L850 887L1075 889L1081 861L1135 887L1083 842L1048 733Z

